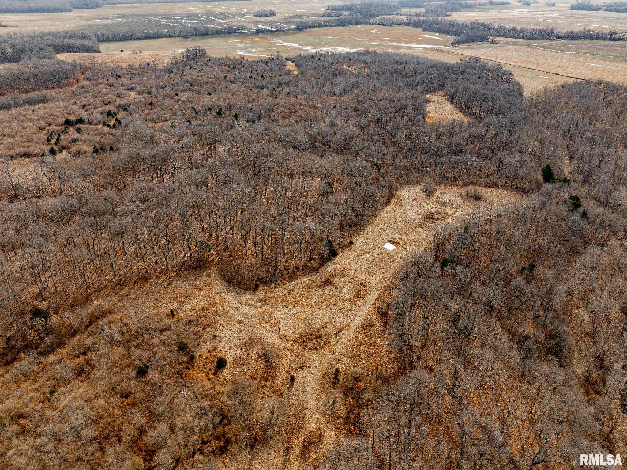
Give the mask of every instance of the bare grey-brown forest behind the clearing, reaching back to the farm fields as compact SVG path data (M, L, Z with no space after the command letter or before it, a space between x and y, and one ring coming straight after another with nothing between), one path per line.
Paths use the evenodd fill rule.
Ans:
M574 115L548 98L524 99L511 72L479 60L299 56L292 77L279 58L188 57L87 70L56 92L75 105L40 108L53 112L31 124L41 130L1 150L8 334L24 331L33 302L69 305L208 260L246 287L310 269L328 259L327 240L342 247L400 184L532 191L540 166L559 168L560 155L577 162L599 203L624 184L615 145L624 127L601 112L623 104L618 85L569 85L569 102L595 97L588 114ZM339 73L347 61L367 72ZM475 120L425 125L423 96L438 90ZM565 115L572 123L558 139L547 122ZM36 164L16 174L16 158Z

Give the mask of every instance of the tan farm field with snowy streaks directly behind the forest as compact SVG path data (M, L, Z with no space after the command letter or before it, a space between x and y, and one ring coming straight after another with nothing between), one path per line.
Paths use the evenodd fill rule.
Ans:
M450 46L451 36L424 32L409 26L344 26L287 31L266 35L238 34L102 43L107 53L141 50L176 52L189 46L203 46L210 55L269 56L276 51L290 56L310 52L379 50L456 61L478 56L502 63L515 73L526 90L572 81L576 78L627 80L627 45L609 41L521 41L500 39L496 44ZM70 58L65 55L65 58ZM120 60L111 54L110 60ZM145 59L137 58L135 60Z

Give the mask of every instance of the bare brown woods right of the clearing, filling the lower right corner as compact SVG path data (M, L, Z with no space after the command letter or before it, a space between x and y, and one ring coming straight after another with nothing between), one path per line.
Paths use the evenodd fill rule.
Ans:
M582 452L624 453L627 258L605 238L624 229L608 208L582 218L568 192L475 211L407 260L379 311L393 378L344 373L335 406L356 431L322 469L573 468Z

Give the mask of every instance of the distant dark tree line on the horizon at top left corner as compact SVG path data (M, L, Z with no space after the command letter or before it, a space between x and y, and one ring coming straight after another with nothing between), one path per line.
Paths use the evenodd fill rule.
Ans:
M75 9L100 8L103 5L186 1L189 0L0 0L0 13L60 13Z

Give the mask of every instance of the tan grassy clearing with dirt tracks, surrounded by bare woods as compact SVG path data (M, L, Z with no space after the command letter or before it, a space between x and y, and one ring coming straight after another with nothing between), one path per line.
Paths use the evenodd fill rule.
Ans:
M483 203L517 198L497 189L482 192ZM320 435L308 456L299 456L298 446L285 452L281 441L259 452L252 467L309 467L336 439L325 393L332 388L334 369L348 371L355 361L384 356L384 332L364 334L369 325L381 328L378 321L371 321L376 319L373 305L406 257L428 246L429 228L456 220L480 204L463 197L464 193L462 188L440 188L426 198L416 186L399 190L351 246L340 249L322 269L275 289L233 292L214 272L204 271L143 293L119 292L115 302L120 307L165 308L216 319L208 344L199 348L199 360L217 348L228 359L224 380L236 375L261 380L265 396L280 397L285 411L297 415L295 442L307 432ZM396 248L387 250L386 242ZM280 351L270 377L261 359L261 351L268 347ZM293 383L290 375L295 377Z

